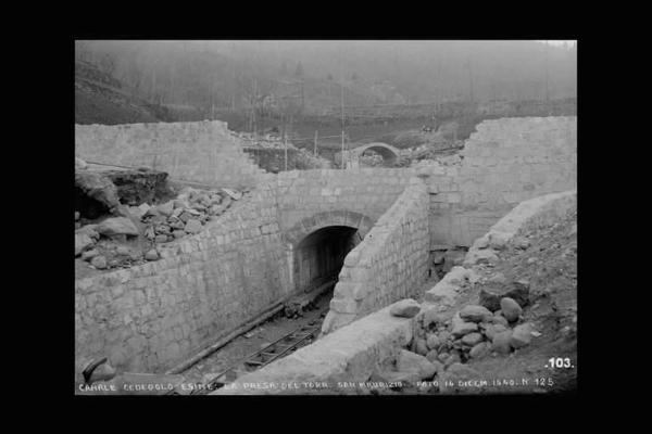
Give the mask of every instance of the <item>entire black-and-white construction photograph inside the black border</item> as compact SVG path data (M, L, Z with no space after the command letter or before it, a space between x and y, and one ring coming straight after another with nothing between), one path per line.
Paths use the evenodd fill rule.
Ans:
M73 43L75 395L577 392L577 40Z

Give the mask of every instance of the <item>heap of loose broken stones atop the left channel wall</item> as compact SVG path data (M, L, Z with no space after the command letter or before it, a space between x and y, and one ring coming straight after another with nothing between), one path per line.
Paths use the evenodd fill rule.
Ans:
M224 214L242 194L229 189L206 191L186 188L175 200L156 206L145 203L128 209L146 225L143 233L147 239L167 243L200 232L206 222Z

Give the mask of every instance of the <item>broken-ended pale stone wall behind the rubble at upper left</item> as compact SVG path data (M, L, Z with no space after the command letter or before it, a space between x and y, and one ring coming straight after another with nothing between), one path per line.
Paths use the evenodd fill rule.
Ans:
M75 125L83 159L167 171L173 179L252 187L264 173L229 135L226 123Z

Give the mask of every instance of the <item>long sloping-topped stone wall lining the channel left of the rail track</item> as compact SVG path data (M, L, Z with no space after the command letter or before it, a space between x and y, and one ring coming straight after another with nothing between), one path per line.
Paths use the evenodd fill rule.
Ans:
M287 295L275 201L263 183L161 260L77 280L77 362L159 372Z

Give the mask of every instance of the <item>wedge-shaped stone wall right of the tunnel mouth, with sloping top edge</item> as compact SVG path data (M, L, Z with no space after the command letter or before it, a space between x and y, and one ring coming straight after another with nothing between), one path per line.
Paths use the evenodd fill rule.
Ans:
M344 258L323 333L416 295L428 269L428 193L412 178L394 204Z

